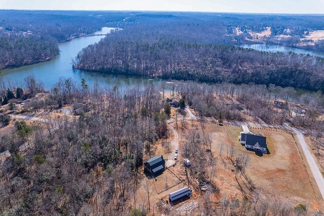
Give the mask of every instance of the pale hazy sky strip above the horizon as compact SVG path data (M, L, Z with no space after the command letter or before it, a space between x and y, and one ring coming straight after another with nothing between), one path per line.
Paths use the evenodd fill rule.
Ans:
M324 14L324 0L0 0L0 9Z

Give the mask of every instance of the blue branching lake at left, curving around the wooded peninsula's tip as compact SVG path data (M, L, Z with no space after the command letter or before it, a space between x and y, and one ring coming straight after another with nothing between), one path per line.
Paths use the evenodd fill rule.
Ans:
M95 34L107 34L112 29L115 28L104 27L101 31L95 32ZM43 81L46 90L50 90L58 82L60 77L72 78L77 84L81 83L82 78L85 78L89 86L98 83L101 87L118 85L123 88L136 84L157 84L160 82L160 79L149 80L148 78L105 75L72 69L72 59L77 56L78 52L91 44L95 44L103 37L105 35L74 38L68 42L59 44L60 54L55 59L48 62L3 70L0 73L0 78L5 81L8 79L13 80L18 87L24 87L24 78L30 74L34 74L37 80Z

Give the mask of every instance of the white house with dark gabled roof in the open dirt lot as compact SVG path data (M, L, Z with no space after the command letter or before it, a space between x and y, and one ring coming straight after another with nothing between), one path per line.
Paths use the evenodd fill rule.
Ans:
M254 151L259 151L262 153L267 153L266 138L263 137L261 134L254 135L250 132L246 134L244 132L241 132L239 140L241 144L248 149L252 149Z

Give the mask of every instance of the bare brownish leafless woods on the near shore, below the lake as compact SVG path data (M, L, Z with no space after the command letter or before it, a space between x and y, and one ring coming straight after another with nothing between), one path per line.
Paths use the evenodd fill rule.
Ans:
M2 97L19 100L43 90L38 88L41 83L33 76L26 77L24 84L24 90L5 89L1 85ZM34 121L32 124L16 119L12 133L4 135L0 142L1 152L9 150L11 154L6 156L0 169L0 213L90 215L102 212L105 215L135 215L131 212L137 208L140 215L151 215L147 199L140 201L136 197L140 182L145 179L144 158L152 153L156 141L168 136L169 98L161 94L165 93L166 85L163 82L159 86L101 88L97 84L88 86L86 80L75 83L71 78L62 77L54 85L52 94L26 102L21 111L9 104L9 111L23 115L41 109L43 113L56 112L75 102L88 103L91 111L85 110L79 116L70 118ZM171 89L171 99L181 98L192 106L201 117L202 124L206 117L213 117L219 122L248 121L248 117L275 124L290 120L293 125L309 130L314 148L318 150L322 147L322 135L318 133L324 127L324 121L319 117L324 103L321 93L295 99L301 107L289 101L295 97L293 88L283 89L275 85L267 88L265 85L207 85L187 81L174 82ZM273 99L286 102L273 109ZM240 103L228 103L232 100ZM13 118L3 109L0 119L7 125ZM303 117L290 116L292 110L298 112L301 109L306 110ZM184 121L181 125L186 128ZM188 171L191 171L193 179L210 178L206 169L207 160L200 159L208 157L204 150L204 136L200 132L195 132L193 137L188 136L192 139L190 143L196 144L194 148L188 147L192 161ZM24 144L27 144L26 148L19 148ZM204 194L219 192L211 189L200 193L205 197ZM275 200L260 198L255 204L251 203L256 195L251 193L249 201L224 196L220 208L211 207L208 197L205 197L201 200L200 211L216 215L240 215L239 212L245 212L244 215L262 212L301 215L300 212L306 212L304 205L296 210L290 203L280 201L280 197ZM254 208L249 207L252 204ZM166 215L175 214L172 209L159 208Z

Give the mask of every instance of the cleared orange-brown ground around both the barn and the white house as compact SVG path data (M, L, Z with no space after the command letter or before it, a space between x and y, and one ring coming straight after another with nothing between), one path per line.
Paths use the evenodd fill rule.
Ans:
M190 129L195 129L200 133L202 132L201 125L198 121L192 122L189 120L186 121L186 129L184 129L184 131L181 132L181 127L179 127L179 139L184 137L183 133L186 133L186 131ZM241 201L244 196L247 196L253 203L256 197L259 197L259 199L269 202L279 200L280 202L288 203L292 206L305 204L308 207L308 212L314 212L314 210L317 209L323 211L324 209L321 207L323 200L320 197L318 189L312 188L312 185L316 187L316 184L307 168L307 163L305 163L305 166L302 161L302 157L293 136L290 133L272 128L261 129L249 127L249 129L252 133L260 133L267 138L267 147L270 154L259 156L254 151L248 151L242 146L238 141L239 133L242 131L242 127L240 126L220 126L212 122L204 123L205 134L212 134L213 142L211 145L211 152L216 160L216 166L214 166L213 170L214 175L211 179L220 189L220 194L211 197L211 200L220 201L222 195L225 195L230 199L237 198ZM246 176L250 180L251 185L254 186L254 189L249 189L249 183L243 175L238 175L236 181L235 167L229 158L231 147L233 147L232 150L235 155L246 153L250 156L251 160L246 169ZM179 147L179 151L181 151L181 147ZM208 153L206 153L206 156L208 156ZM156 207L160 199L167 199L170 192L184 187L187 183L184 166L179 162L183 160L183 158L181 158L181 152L179 152L178 157L178 162L175 166L170 167L170 169L184 181L163 193L157 194L153 180L149 180L151 207ZM235 156L233 156L233 161L235 161ZM210 166L209 169L212 170L212 166ZM166 171L166 176L169 176L169 171ZM308 174L310 174L310 177ZM162 188L166 188L166 178L164 175L165 174L162 174L158 177L160 183L159 187ZM143 188L146 181L145 179L144 177L138 198L142 198L147 205L147 196L146 199L143 198L145 194L147 194ZM170 184L168 183L168 186L169 185L171 185L171 182ZM189 187L192 188L192 186ZM193 192L195 191L193 190ZM197 193L193 193L193 196L188 201L172 206L172 208L176 210L179 206L192 201L198 203L198 197L199 195Z

